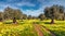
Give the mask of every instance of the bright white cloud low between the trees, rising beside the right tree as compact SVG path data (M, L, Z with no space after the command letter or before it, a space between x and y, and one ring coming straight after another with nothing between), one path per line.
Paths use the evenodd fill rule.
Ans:
M26 11L23 11L23 13L27 15L38 16L39 14L43 13L43 7L38 10L26 10Z

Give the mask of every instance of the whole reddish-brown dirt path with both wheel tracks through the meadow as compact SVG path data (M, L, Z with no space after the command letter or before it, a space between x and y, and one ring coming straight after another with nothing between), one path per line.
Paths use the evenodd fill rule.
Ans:
M43 33L42 33L42 31L40 29L41 27L44 28L46 31L48 31L51 36L56 36L54 33L52 33L49 28L47 28L47 27L43 26L43 25L34 24L34 27L35 27L35 31L37 31L37 33L38 33L39 36L43 36Z

